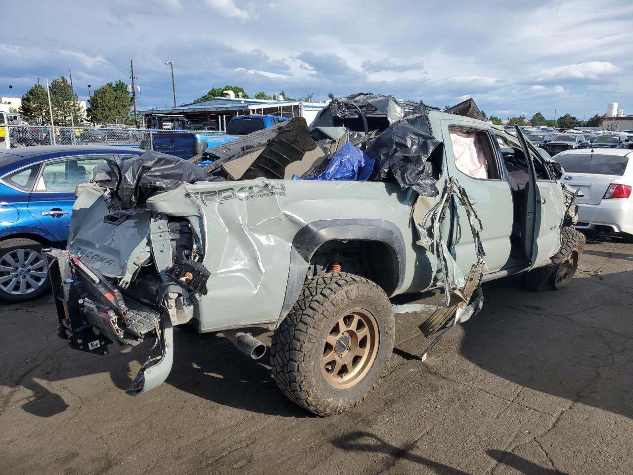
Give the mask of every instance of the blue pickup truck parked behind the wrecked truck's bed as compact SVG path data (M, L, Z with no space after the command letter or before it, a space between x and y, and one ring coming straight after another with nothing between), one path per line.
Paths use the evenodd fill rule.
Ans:
M186 133L158 132L154 134L154 150L187 160L208 148L288 120L290 119L287 117L277 115L238 115L230 120L226 134L212 134L205 130L192 130Z

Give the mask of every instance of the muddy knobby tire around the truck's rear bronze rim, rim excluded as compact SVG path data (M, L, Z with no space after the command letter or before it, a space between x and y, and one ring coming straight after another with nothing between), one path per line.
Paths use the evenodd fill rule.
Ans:
M375 317L379 330L375 359L351 388L334 388L322 373L325 338L340 315L358 308ZM280 390L304 409L320 416L339 414L363 402L377 386L391 357L395 333L391 303L377 284L343 272L313 277L273 334L273 376Z

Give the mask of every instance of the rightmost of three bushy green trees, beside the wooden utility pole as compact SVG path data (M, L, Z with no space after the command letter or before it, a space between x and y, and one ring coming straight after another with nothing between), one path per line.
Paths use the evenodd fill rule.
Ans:
M93 124L124 124L131 118L132 98L122 80L108 82L92 92L88 117Z

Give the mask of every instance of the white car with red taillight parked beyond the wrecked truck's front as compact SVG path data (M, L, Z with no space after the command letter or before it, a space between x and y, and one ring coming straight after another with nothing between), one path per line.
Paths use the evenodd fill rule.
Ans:
M633 150L575 149L553 160L565 170L563 181L579 189L576 228L633 242Z

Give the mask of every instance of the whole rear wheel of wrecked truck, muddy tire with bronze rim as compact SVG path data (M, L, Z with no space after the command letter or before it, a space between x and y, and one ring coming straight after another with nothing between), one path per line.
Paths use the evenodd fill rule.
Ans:
M301 407L338 414L378 384L394 336L391 303L377 284L339 272L314 277L273 335L275 381Z

